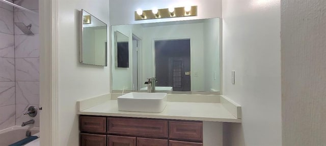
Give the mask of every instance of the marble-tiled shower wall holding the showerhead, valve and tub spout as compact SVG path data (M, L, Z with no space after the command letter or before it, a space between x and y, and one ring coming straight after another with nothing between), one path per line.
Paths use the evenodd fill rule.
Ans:
M14 3L36 12L39 9L38 0L18 0ZM32 24L31 31L35 34L25 35L14 25L16 125L34 119L34 126L39 127L39 114L34 118L23 115L29 106L39 106L39 16L14 8L14 22Z

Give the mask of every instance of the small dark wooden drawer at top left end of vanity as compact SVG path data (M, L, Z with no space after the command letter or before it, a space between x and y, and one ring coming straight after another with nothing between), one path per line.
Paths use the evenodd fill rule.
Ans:
M106 133L106 118L80 116L80 131L90 133Z

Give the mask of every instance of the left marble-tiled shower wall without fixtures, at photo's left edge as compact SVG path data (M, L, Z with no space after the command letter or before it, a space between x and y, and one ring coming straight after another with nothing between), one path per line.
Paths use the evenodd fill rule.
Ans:
M13 7L0 3L0 130L15 125Z

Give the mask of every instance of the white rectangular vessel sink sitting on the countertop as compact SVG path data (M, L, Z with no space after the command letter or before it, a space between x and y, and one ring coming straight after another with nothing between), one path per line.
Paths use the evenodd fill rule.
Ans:
M131 92L118 97L118 110L160 113L167 106L167 93Z

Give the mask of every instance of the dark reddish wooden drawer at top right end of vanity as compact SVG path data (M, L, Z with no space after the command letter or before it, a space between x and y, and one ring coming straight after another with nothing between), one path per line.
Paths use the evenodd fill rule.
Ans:
M175 140L203 141L202 122L169 121L169 137Z

